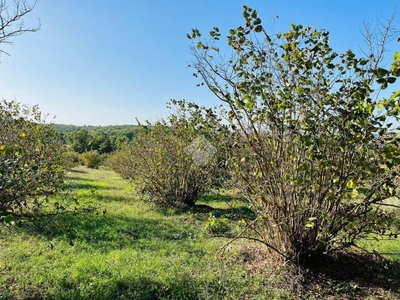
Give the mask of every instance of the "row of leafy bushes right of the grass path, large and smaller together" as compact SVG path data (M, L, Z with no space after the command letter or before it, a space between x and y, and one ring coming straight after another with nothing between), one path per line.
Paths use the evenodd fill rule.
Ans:
M229 32L228 59L217 27L209 39L188 34L199 85L221 110L175 101L176 113L149 124L113 168L161 206L191 206L234 186L258 212L251 237L296 263L387 234L384 201L399 196L389 121L400 92L377 99L374 89L400 76L400 55L378 68L373 55L334 52L324 30L292 25L271 39L255 10L244 6L243 16L245 27Z

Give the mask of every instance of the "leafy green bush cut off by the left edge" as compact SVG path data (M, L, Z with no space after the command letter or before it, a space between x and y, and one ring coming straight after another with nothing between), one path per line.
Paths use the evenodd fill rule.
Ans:
M37 213L61 189L63 152L38 106L0 103L0 216Z

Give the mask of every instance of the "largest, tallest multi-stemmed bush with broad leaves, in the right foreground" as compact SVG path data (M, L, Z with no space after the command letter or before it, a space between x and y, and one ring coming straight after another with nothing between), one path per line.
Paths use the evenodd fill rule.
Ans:
M191 67L225 106L234 135L233 182L257 209L251 237L301 262L386 234L382 208L397 197L399 92L377 96L398 68L351 50L336 53L329 32L291 25L268 34L244 6L244 25L220 53L214 27L193 29Z

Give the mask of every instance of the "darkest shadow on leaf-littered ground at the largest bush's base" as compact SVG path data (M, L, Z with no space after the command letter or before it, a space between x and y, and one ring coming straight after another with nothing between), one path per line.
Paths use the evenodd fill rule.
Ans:
M312 296L340 295L346 299L364 299L383 290L400 299L400 262L379 254L345 252L324 255L307 263L305 268L305 286Z

